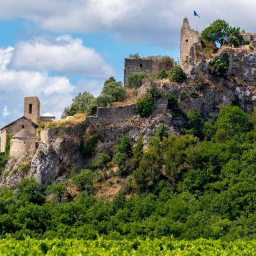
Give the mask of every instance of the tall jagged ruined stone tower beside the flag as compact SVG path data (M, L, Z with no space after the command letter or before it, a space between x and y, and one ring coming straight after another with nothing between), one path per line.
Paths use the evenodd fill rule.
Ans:
M200 34L190 29L189 21L185 18L180 31L180 67L186 74L189 74L190 65L195 64L197 43L200 44Z

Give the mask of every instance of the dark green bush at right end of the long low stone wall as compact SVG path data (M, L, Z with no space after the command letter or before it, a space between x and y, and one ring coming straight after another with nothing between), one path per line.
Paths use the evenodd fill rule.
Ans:
M140 117L149 117L149 115L155 109L155 103L157 99L159 99L160 94L155 87L152 87L149 92L147 92L144 96L137 99L136 102L136 112L140 115Z

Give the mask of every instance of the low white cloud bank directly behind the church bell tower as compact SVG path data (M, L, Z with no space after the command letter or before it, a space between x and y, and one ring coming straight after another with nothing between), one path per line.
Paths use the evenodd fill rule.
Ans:
M62 41L60 37L58 38ZM21 70L13 69L12 61L15 54L16 49L13 47L0 47L0 108L2 117L5 117L4 120L0 119L0 126L23 115L25 96L39 97L41 114L51 112L59 118L64 107L71 104L74 96L81 91L99 94L106 79L81 79L77 84L71 84L66 76L50 76L50 66L47 71L35 71L32 70L32 66L31 70L28 67Z

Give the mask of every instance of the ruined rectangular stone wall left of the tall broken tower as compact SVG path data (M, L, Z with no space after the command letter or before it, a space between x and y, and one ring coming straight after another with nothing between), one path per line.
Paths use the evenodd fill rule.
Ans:
M149 59L125 59L124 60L124 86L128 85L128 77L132 72L145 72L146 76L154 76L161 69L169 71L173 64L170 61L154 61Z

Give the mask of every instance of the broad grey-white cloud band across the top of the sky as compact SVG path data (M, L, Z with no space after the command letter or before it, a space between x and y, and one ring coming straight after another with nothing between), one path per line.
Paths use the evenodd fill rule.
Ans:
M200 19L192 17L193 10ZM254 31L254 0L1 0L0 17L25 17L57 32L111 32L124 41L179 46L184 17L199 29L217 18ZM242 19L238 19L242 17Z

